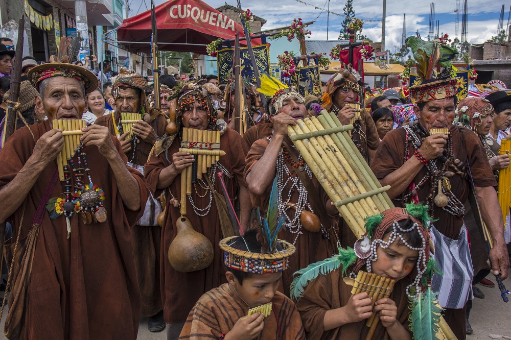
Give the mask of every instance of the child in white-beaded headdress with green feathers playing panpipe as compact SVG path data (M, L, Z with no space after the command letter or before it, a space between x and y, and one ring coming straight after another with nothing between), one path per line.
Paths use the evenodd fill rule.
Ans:
M298 299L307 339L411 339L408 298L427 286L434 268L428 221L425 206L385 210L366 219L366 235L354 249L339 249L339 254L296 272L291 296ZM393 284L390 296L364 289L361 293L354 289L358 294L352 295L351 285L360 271L383 278L368 274L374 281L355 285L365 282L369 293L387 293ZM372 329L366 326L367 319L374 319Z

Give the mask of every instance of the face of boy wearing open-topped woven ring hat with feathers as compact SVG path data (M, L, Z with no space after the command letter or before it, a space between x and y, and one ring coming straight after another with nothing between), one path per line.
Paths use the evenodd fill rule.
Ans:
M240 285L236 278L234 278L234 282L229 281L229 284L231 289L236 289L240 297L250 308L254 308L264 305L273 299L281 278L282 272L254 274L246 278L243 281L243 285Z

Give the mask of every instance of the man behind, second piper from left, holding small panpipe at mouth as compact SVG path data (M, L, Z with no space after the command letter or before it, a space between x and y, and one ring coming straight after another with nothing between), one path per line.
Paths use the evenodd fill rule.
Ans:
M117 111L96 119L97 125L106 126L112 135L120 136L128 166L144 174L144 164L156 139L165 134L167 120L160 111L146 104L145 91L151 88L142 75L121 69L112 84L112 96ZM133 135L123 130L121 112L142 113L142 120L133 125ZM125 126L125 125L124 125ZM145 204L144 215L131 229L133 255L142 296L142 314L149 317L148 329L165 329L160 295L160 238L161 228L156 217L161 212L158 200L150 196Z

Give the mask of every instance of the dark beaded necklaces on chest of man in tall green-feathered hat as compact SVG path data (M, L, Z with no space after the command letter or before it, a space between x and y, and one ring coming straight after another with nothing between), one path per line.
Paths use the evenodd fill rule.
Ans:
M415 150L419 150L424 139L427 137L426 132L422 129L420 124L418 124L418 122L414 123L415 124L403 126L405 129L405 162L410 158L409 143L412 144ZM430 160L427 164L425 164L427 171L424 177L419 181L419 183L414 183L412 181L408 190L403 192L401 199L403 206L405 206L406 203L418 201L418 191L429 181L430 188L428 195L426 196L426 204L429 206L429 214L433 216L434 207L435 205L438 206L434 202L435 192L441 192L447 196L448 203L446 206L439 207L452 215L462 218L465 211L464 205L451 191L451 183L449 180L449 178L454 176L454 173L463 178L467 177L466 173L464 173L464 167L462 167L461 171L458 168L462 165L463 163L456 159L456 156L452 153L452 136L449 135L447 145L444 148L444 153L440 154L435 160ZM449 171L449 168L451 168L452 171Z

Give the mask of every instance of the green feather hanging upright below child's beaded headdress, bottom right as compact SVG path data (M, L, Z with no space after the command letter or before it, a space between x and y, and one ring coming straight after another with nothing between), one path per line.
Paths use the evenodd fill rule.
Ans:
M428 287L427 292L419 293L413 301L409 320L412 324L415 340L434 340L439 331L442 308L436 300L435 293Z

